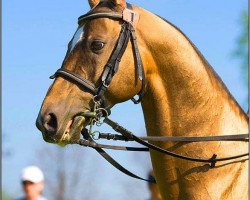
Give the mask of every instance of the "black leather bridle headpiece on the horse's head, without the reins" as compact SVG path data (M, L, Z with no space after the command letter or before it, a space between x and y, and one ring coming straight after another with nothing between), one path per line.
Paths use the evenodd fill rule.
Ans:
M134 97L131 99L135 104L138 104L141 102L142 96L145 91L145 75L144 75L144 69L142 64L142 59L140 56L139 48L136 42L136 34L135 29L133 27L133 24L135 23L136 19L138 18L137 13L132 11L132 6L128 4L128 8L124 9L123 13L105 13L105 12L93 12L91 10L89 13L82 15L78 18L78 24L82 24L84 21L97 19L97 18L110 18L115 20L122 21L121 25L121 31L119 33L119 37L117 39L117 42L115 44L115 47L104 66L103 72L101 77L99 78L100 84L96 87L97 84L92 83L91 81L81 77L78 74L75 74L74 72L71 72L67 69L60 68L56 71L54 75L52 75L50 78L54 79L56 77L62 77L68 81L71 81L77 85L79 85L82 89L86 90L87 92L90 92L94 95L95 101L102 101L102 105L105 105L104 102L104 93L109 87L114 75L118 71L119 63L121 61L121 58L127 48L129 40L132 43L133 53L135 57L135 68L137 73L137 79L139 79L142 83L141 90L139 91L138 99L136 100Z

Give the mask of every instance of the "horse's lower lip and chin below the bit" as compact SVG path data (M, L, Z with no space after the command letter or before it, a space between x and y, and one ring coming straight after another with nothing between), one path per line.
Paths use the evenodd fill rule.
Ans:
M82 129L87 125L87 120L83 116L76 116L71 119L60 140L57 142L60 146L75 143L80 139Z

